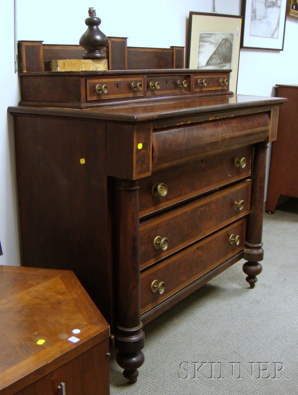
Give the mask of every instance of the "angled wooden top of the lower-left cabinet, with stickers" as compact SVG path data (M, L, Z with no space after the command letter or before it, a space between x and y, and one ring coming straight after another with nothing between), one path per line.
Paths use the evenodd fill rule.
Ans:
M38 378L38 369L44 375L110 334L71 271L0 266L0 316L1 395L14 394Z

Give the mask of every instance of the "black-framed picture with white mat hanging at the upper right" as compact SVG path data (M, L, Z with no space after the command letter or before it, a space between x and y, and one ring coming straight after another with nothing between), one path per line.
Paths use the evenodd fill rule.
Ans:
M287 0L242 0L242 48L282 51Z

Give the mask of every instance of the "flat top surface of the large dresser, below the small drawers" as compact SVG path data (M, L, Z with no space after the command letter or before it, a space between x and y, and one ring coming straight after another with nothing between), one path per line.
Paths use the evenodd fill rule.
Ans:
M286 99L278 97L263 97L250 95L218 95L208 97L173 97L152 100L138 100L135 103L122 102L107 106L88 109L70 109L53 107L9 107L12 114L32 114L55 117L91 118L122 122L158 121L165 118L192 117L204 114L216 117L217 113L234 111L235 115L248 109L258 108L257 111L267 111L274 105L280 105ZM260 110L261 109L261 110ZM186 120L189 122L189 119Z

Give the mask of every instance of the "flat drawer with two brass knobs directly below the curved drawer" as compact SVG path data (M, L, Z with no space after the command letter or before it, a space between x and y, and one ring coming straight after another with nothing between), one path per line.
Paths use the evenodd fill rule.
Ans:
M140 180L140 217L251 176L252 146L181 166ZM166 191L166 194L165 194Z

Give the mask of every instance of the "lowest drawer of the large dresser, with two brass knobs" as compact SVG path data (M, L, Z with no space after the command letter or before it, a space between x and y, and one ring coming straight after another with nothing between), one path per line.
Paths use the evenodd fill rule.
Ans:
M157 306L245 245L246 218L141 273L141 312Z

